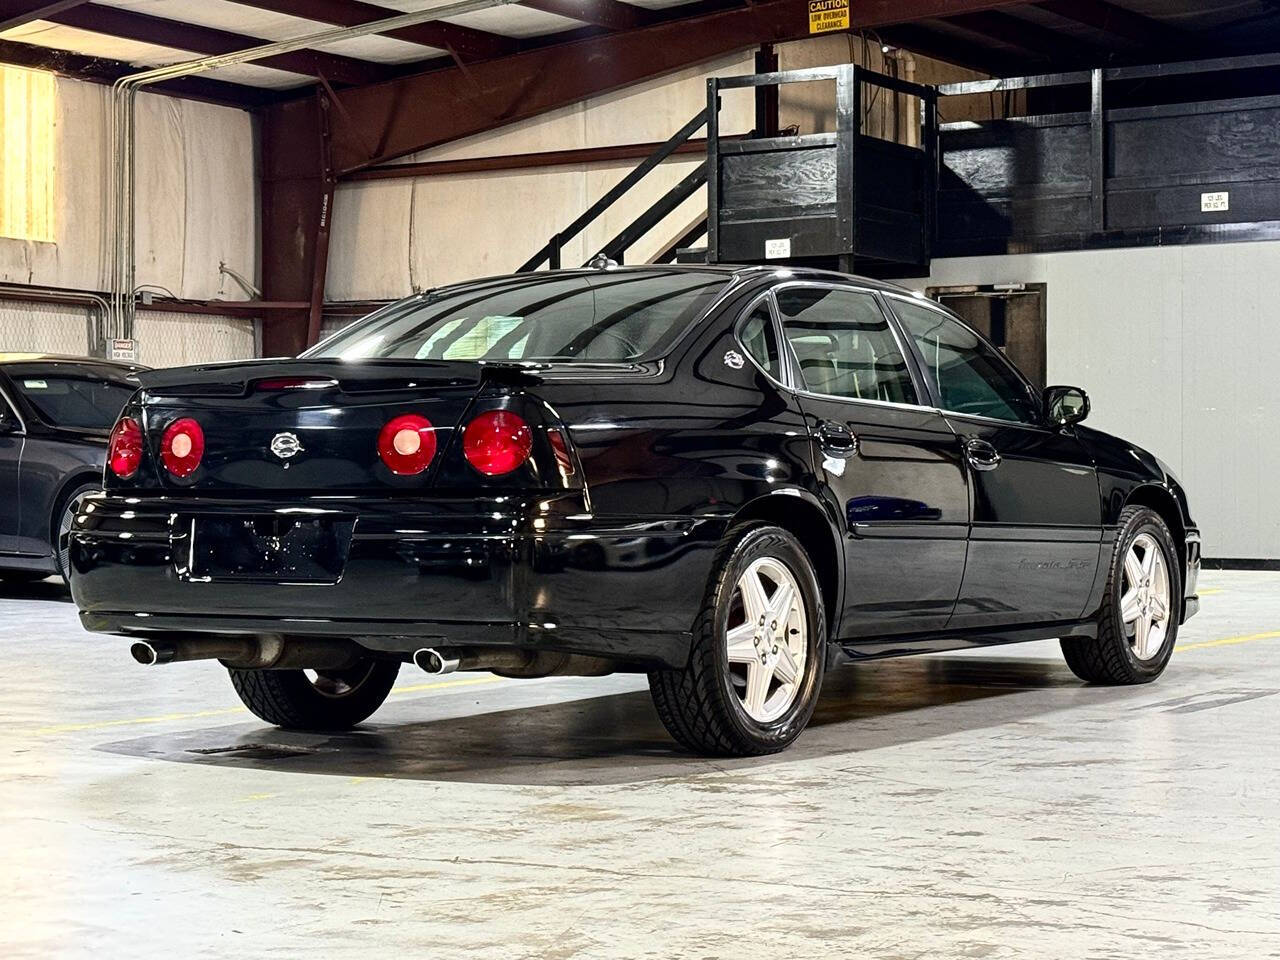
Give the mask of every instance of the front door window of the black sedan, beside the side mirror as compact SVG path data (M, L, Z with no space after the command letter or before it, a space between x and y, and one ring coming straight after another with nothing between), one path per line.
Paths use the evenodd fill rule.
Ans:
M945 410L1039 422L1027 385L995 347L941 311L904 300L893 300L893 311L919 344Z

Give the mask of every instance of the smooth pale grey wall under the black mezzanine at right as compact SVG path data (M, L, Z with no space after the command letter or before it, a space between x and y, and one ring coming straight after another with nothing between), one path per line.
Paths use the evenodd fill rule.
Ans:
M933 261L913 285L1048 285L1048 380L1169 463L1208 557L1280 558L1277 243Z

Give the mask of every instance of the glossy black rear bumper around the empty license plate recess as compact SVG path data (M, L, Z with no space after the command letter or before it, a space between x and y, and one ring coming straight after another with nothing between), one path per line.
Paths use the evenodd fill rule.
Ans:
M186 575L192 517L355 518L337 582ZM682 664L723 522L598 520L547 498L300 498L288 503L95 494L70 541L86 628L347 636L376 650L497 644Z

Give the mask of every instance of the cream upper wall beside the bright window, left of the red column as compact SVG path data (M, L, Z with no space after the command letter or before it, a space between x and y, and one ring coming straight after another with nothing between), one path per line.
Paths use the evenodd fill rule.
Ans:
M0 238L0 283L108 287L110 88L58 78L55 243ZM137 282L219 296L219 261L257 273L253 122L243 110L137 101ZM239 300L234 284L227 298Z

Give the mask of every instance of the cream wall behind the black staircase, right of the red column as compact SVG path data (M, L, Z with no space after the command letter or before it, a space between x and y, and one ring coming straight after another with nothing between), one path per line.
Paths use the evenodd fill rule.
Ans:
M575 150L667 140L707 104L707 77L753 72L751 55L681 70L499 131L406 157L413 161ZM750 93L726 97L726 133L754 123ZM586 261L700 161L671 160L572 243L566 266ZM334 201L329 300L378 300L472 276L508 273L582 212L636 160L343 184ZM628 255L641 262L707 211L698 192Z

